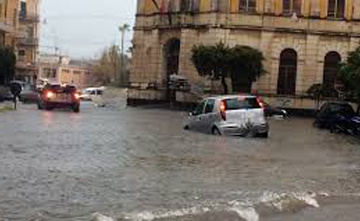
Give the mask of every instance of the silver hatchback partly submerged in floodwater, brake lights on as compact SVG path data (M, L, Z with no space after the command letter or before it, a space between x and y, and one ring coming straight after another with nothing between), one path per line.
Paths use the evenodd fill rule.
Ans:
M209 97L189 114L184 129L216 135L268 137L264 110L255 96Z

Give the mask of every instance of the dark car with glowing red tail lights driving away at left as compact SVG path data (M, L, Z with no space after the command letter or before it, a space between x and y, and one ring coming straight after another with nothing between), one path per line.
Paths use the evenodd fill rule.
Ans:
M52 110L56 107L70 107L74 112L80 111L80 94L75 86L47 84L39 92L38 108Z

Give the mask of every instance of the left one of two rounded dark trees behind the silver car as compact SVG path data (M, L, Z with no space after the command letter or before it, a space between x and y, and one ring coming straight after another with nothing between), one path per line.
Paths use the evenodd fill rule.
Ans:
M229 92L226 78L229 69L230 48L222 42L215 46L195 45L191 60L200 76L208 76L213 80L221 80L224 93Z

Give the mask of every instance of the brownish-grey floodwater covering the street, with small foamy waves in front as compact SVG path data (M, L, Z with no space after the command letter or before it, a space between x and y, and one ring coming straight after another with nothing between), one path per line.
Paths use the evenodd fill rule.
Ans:
M90 103L0 113L0 220L360 217L355 138L307 118L271 119L268 139L216 137L185 118Z

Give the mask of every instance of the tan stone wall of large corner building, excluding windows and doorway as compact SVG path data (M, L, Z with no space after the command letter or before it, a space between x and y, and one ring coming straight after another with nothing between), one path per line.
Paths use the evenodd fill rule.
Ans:
M213 2L201 1L202 13L173 14L171 23L167 14L151 8L150 1L143 3L148 5L138 8L130 75L132 86L142 89L149 82L161 83L167 78L164 46L173 38L181 40L179 74L195 85L206 86L209 81L198 76L191 62L194 45L223 41L230 46L248 45L261 50L268 73L253 87L267 94L277 92L282 50L294 49L298 55L298 96L304 95L312 84L322 83L328 52L336 51L345 60L347 52L360 42L360 22L353 20L360 18L360 0L346 1L344 19L324 19L325 0L303 0L302 13L297 18L282 16L280 0L258 0L255 14L239 13L238 1L220 1L218 13L211 12Z

